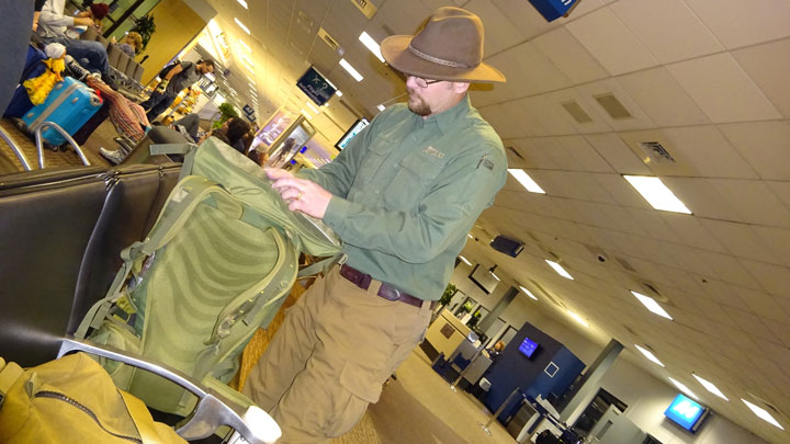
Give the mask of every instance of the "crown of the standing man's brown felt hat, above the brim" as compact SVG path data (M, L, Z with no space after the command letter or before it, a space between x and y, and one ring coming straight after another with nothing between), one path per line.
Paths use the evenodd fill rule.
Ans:
M483 22L460 8L438 9L415 34L410 50L429 61L474 68L483 61Z

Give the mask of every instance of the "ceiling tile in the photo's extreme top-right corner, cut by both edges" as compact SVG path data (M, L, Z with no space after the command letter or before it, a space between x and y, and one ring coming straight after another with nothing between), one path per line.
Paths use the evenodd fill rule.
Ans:
M777 0L686 0L729 49L790 35L790 3Z

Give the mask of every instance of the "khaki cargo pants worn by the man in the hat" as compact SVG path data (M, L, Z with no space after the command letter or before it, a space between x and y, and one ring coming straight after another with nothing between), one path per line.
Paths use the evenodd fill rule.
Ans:
M327 442L376 402L382 384L422 340L430 308L376 296L332 267L286 311L244 386L280 424L280 443Z

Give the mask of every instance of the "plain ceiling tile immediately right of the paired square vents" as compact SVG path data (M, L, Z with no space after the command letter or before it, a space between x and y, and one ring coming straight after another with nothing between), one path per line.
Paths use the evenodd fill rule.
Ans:
M710 123L708 116L664 67L621 76L617 81L658 126Z

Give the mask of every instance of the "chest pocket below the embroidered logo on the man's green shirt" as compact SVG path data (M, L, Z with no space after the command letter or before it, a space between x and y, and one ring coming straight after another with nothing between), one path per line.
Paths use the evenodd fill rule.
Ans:
M398 172L384 192L384 203L390 209L416 212L444 168L444 160L420 152L403 159L398 166Z

